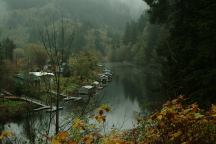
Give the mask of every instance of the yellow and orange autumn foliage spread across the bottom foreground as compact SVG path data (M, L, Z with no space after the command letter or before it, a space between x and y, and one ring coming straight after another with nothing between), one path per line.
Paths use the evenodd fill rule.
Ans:
M196 103L186 104L180 96L168 101L160 111L137 118L130 130L103 132L107 105L98 108L93 120L75 118L71 129L49 138L51 144L214 144L216 143L216 105L209 111ZM1 135L1 139L4 137ZM7 135L8 136L8 135Z

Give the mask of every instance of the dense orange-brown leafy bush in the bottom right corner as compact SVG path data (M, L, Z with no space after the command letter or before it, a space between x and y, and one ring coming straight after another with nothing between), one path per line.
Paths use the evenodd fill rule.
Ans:
M202 143L209 135L216 139L216 105L205 114L197 103L183 105L183 101L183 97L168 101L150 117L152 123L142 132L142 143Z

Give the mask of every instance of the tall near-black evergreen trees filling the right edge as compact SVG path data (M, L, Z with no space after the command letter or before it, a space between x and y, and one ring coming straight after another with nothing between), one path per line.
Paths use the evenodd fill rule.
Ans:
M145 1L151 22L169 30L157 50L163 60L164 89L168 95L185 94L210 103L216 92L216 1Z

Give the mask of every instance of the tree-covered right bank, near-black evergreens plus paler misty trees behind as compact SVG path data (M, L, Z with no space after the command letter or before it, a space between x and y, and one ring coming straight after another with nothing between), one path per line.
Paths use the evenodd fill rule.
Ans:
M216 91L215 2L145 2L150 9L127 25L113 60L153 67L163 95L211 103Z

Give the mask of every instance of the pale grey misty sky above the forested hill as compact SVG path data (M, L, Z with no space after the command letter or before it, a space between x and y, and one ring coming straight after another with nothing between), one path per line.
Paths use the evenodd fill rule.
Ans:
M14 10L19 11L19 16L23 13L25 17L26 14L32 13L36 17L43 8L47 9L47 12L52 12L50 7L52 10L55 9L54 11L59 10L65 17L69 15L75 19L105 24L117 22L120 26L126 24L127 21L138 19L148 8L143 0L0 0L0 25L8 19L14 23L13 19L17 16L10 15ZM38 8L39 11L37 11ZM9 15L7 15L8 12Z

